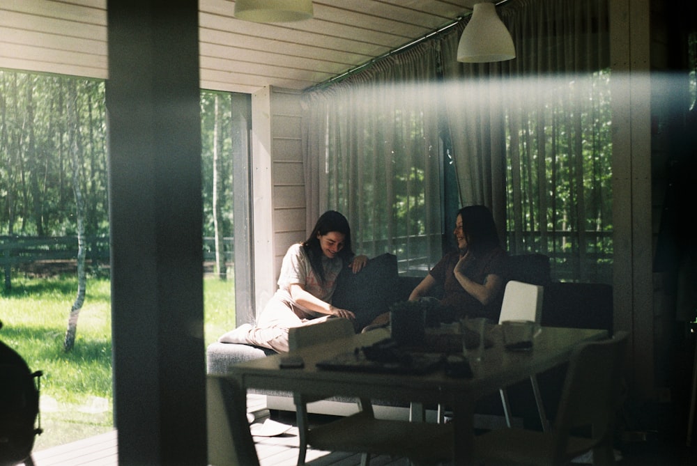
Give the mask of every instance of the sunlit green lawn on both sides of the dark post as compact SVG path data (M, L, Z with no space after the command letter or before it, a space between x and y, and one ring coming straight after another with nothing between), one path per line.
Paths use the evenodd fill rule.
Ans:
M77 279L13 275L0 294L0 339L41 378L39 451L113 428L112 328L109 279L90 278L70 352L63 350ZM234 279L204 279L205 345L235 327Z

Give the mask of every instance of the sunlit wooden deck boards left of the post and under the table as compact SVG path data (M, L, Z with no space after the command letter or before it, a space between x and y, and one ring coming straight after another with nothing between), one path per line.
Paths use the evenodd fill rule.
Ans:
M263 401L261 401L263 399ZM247 398L247 410L256 416L255 422L268 419L266 398ZM292 416L284 416L279 422L292 425L283 435L276 437L254 437L256 453L261 466L295 466L298 461L298 428L294 425ZM84 440L55 446L43 451L34 451L34 466L117 466L116 430L109 433L89 437ZM327 452L309 450L307 463L313 466L357 466L360 465L360 455L342 452ZM378 456L371 458L372 466L406 466L404 458Z

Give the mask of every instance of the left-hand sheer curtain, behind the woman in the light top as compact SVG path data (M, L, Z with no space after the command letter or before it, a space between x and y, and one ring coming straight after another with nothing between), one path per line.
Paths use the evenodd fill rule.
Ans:
M402 271L442 251L436 53L418 45L303 100L308 221L339 210L356 251L397 254Z

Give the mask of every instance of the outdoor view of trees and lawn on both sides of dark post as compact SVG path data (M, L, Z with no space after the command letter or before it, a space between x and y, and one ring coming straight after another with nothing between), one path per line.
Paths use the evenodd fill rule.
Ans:
M206 344L235 325L232 160L246 150L233 143L246 139L245 102L201 91ZM113 428L108 255L93 250L108 245L107 152L104 81L0 70L0 340L43 371L35 451ZM27 238L74 242L77 260L11 257Z

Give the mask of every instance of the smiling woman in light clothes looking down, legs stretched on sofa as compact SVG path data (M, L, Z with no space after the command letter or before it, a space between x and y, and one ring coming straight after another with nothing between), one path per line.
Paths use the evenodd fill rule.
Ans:
M307 240L289 247L281 265L278 290L256 325L240 325L218 341L287 352L290 328L330 316L353 320L353 312L332 306L332 295L343 267L357 273L367 261L366 256L353 254L346 217L335 210L324 212Z

